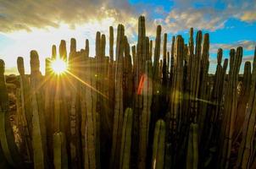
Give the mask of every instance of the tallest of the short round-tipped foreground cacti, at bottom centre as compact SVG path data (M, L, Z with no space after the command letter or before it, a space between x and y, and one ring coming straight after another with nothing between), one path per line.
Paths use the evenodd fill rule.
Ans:
M132 131L132 110L131 108L126 108L124 123L122 128L122 139L121 139L121 148L120 148L120 169L130 168L131 131Z

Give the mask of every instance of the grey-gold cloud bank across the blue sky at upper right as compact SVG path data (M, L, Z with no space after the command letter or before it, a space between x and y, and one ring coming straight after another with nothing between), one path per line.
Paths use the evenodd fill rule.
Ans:
M240 19L252 23L256 21L256 1L237 3L235 0L221 1L223 8L216 8L219 1L181 0L174 1L174 8L164 18L154 19L157 25L163 25L165 31L178 33L191 27L197 30L215 31L225 28L228 19Z

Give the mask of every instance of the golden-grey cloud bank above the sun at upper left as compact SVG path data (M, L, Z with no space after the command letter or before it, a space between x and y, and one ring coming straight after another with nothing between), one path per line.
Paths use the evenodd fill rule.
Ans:
M126 1L114 0L0 0L0 31L31 31L31 28L58 28L69 24L71 28L90 20L114 17L125 21L135 11Z

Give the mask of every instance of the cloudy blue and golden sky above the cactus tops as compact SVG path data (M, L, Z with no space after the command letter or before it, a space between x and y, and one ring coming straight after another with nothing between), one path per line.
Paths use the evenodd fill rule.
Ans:
M214 73L218 48L229 57L231 48L243 47L242 64L253 60L256 45L256 0L0 0L0 58L5 61L6 74L17 74L16 59L25 60L30 73L30 52L36 50L44 73L44 60L51 56L51 46L61 40L70 46L74 37L77 49L90 41L90 56L95 54L95 36L101 31L109 37L109 26L125 25L125 35L136 44L137 21L146 17L146 34L154 41L157 25L162 35L182 35L188 41L193 27L209 33L210 67ZM106 46L108 53L108 43ZM69 51L68 51L69 52ZM242 68L241 68L242 72Z

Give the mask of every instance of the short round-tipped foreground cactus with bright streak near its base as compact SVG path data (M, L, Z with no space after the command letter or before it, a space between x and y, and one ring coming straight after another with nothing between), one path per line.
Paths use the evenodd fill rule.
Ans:
M152 168L162 169L164 168L164 141L165 141L165 123L163 120L159 120L156 123L153 136L153 156L152 156Z

